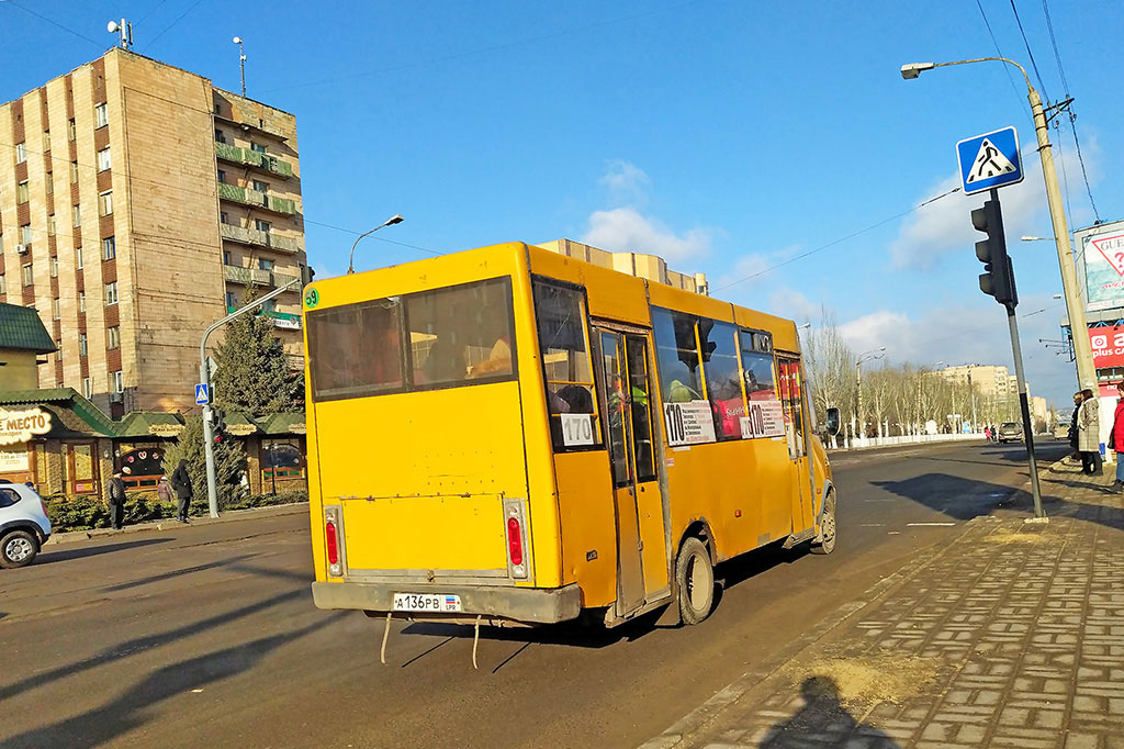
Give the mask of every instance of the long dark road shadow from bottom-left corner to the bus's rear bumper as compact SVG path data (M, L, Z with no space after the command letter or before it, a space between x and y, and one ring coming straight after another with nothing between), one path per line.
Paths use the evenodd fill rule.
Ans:
M323 629L339 612L282 634L260 638L244 644L217 650L206 656L165 666L137 683L112 702L84 713L25 731L0 742L4 749L17 747L97 747L147 722L145 711L170 697L201 689L209 684L250 670L278 648ZM212 737L218 739L218 737Z

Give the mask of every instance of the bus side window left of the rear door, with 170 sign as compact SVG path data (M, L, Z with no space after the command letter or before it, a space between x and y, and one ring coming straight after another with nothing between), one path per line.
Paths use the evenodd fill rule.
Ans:
M554 451L600 446L586 296L545 279L535 279L534 295Z

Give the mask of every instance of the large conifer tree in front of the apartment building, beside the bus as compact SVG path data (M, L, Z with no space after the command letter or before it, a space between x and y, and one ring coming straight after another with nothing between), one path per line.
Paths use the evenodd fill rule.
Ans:
M244 297L248 304L251 297ZM293 372L284 345L264 315L247 313L226 326L215 350L215 405L247 416L305 410L305 377Z

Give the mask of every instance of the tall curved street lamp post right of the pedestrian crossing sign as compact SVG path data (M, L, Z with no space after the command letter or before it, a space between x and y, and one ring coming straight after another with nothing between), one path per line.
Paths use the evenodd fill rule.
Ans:
M1053 222L1054 238L1058 247L1058 264L1061 268L1062 290L1066 292L1066 312L1069 317L1070 331L1073 335L1073 354L1077 359L1077 379L1081 387L1094 387L1097 381L1097 370L1093 363L1093 346L1087 334L1088 324L1085 319L1085 305L1081 301L1077 285L1077 269L1073 265L1073 250L1069 243L1069 227L1066 226L1066 211L1062 208L1061 190L1058 187L1058 172L1054 171L1053 154L1050 146L1049 128L1045 112L1042 110L1042 98L1031 85L1026 70L1014 60L1006 57L977 57L975 60L958 60L946 63L912 63L901 66L901 78L917 78L923 71L948 65L966 65L978 62L1004 62L1014 65L1026 81L1026 98L1031 102L1034 115L1034 130L1039 139L1039 155L1042 159L1042 178L1046 188L1046 201L1050 205L1050 218ZM1036 478L1036 475L1033 475Z

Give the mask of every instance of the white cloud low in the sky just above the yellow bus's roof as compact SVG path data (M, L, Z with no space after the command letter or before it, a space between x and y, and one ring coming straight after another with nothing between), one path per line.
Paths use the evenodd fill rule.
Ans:
M660 255L669 263L695 260L710 252L710 233L706 229L676 234L632 207L595 210L589 217L589 231L579 241L613 252Z

